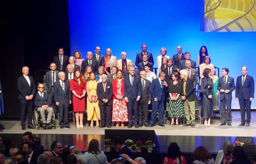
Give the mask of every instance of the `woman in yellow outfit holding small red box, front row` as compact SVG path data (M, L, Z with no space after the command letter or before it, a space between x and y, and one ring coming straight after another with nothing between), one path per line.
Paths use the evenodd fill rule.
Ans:
M93 121L96 121L96 127L99 127L99 119L101 118L99 113L99 101L96 93L98 81L95 78L95 74L91 73L89 82L86 83L87 93L87 120L91 120L91 128L93 127Z

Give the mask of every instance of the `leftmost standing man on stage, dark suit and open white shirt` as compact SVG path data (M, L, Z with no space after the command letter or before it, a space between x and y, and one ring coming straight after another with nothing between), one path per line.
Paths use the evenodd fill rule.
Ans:
M32 126L32 107L33 107L33 97L36 92L36 86L32 76L29 76L29 67L22 68L23 75L17 80L17 86L19 90L19 100L20 100L20 121L22 125L22 130L26 130L25 121L27 113L27 128L33 129Z

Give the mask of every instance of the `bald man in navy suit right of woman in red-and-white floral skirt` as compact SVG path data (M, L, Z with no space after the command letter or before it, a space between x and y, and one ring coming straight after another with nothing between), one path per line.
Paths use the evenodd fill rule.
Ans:
M138 128L138 103L141 97L141 85L140 77L135 76L134 67L129 67L129 76L125 77L124 80L124 100L127 103L128 108L128 128L134 127ZM133 116L133 118L132 118Z

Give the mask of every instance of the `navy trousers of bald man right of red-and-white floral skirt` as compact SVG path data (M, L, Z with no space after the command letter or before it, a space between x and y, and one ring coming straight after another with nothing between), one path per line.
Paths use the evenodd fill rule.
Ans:
M128 108L129 125L132 125L132 123L134 123L134 125L138 124L138 101L136 101L135 98L132 98L127 103L127 108Z

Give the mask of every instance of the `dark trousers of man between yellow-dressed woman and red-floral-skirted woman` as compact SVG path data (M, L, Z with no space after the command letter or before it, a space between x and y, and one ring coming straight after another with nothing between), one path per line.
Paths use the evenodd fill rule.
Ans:
M112 120L111 109L112 109L112 105L109 106L106 103L104 103L103 106L99 106L99 111L101 114L101 126L105 124L108 126L111 126L111 120ZM105 121L105 116L106 116L106 121Z

